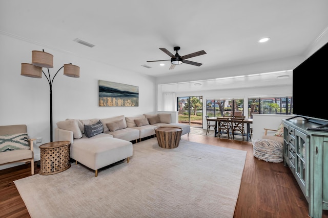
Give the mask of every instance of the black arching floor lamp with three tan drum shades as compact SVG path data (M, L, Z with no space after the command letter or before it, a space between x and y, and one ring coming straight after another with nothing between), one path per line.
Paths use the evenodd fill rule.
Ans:
M48 75L43 71L43 67L48 69ZM64 75L68 77L80 77L80 68L73 64L64 64L56 74L51 78L49 68L53 68L53 55L46 53L44 50L32 51L32 64L22 63L20 75L33 78L42 78L42 73L48 80L50 88L50 141L52 142L52 84L59 70L64 67Z

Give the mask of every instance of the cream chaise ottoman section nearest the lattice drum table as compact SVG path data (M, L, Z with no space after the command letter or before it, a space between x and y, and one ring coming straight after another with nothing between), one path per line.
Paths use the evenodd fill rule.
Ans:
M129 157L133 155L130 141L113 138L107 134L101 135L101 137L75 139L71 144L71 157L93 169L95 176L98 175L98 169L125 158L129 162Z

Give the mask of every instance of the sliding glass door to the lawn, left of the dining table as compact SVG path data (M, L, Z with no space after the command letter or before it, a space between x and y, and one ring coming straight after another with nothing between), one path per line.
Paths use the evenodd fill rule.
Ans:
M179 123L189 124L191 127L203 127L202 96L178 97Z

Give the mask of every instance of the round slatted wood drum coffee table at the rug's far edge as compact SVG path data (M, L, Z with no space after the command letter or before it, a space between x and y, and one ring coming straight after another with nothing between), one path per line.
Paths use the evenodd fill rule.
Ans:
M178 127L158 127L155 129L158 145L165 149L179 146L182 129Z

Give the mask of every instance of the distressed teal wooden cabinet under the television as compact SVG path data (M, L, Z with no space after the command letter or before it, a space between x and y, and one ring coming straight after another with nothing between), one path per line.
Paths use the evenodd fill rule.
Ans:
M306 200L309 215L322 217L328 210L328 132L303 119L284 120L284 164L295 176Z

